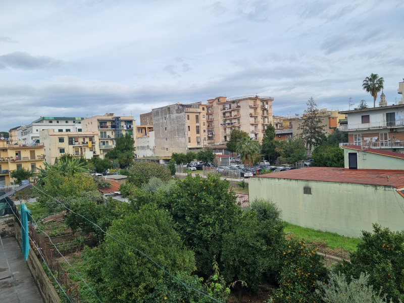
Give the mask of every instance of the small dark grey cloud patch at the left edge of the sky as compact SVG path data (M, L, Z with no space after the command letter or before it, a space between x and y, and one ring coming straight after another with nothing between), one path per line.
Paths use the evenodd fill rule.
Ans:
M24 52L14 52L0 56L0 68L3 69L55 69L61 67L62 61L47 56L32 56Z

